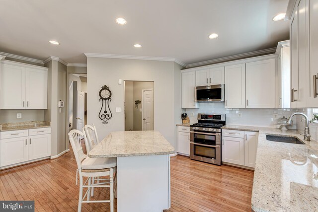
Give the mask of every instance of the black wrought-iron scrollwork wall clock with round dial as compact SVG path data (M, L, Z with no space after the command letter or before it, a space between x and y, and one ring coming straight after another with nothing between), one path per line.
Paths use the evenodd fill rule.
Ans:
M103 124L108 124L108 120L111 119L112 113L109 108L109 102L111 102L111 91L107 85L101 87L99 91L99 101L102 102L98 117L102 120ZM106 104L107 102L107 104ZM104 106L105 105L105 106ZM104 111L103 111L104 110Z

